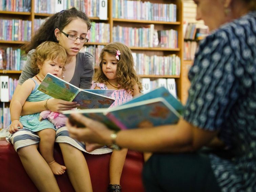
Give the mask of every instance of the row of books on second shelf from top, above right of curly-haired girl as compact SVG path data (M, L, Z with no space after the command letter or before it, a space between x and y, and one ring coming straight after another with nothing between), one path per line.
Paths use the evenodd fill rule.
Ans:
M178 31L155 30L154 25L145 27L113 27L113 41L119 41L131 47L178 48Z

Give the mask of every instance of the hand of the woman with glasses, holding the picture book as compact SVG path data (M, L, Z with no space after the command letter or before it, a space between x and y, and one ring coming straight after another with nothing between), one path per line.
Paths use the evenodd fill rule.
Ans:
M54 98L49 99L46 104L50 111L58 113L60 111L70 110L79 106L77 102L64 101L61 99Z

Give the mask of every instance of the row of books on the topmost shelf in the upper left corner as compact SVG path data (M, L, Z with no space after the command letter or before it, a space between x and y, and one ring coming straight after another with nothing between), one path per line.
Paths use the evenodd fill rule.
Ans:
M0 0L0 11L30 12L31 0Z

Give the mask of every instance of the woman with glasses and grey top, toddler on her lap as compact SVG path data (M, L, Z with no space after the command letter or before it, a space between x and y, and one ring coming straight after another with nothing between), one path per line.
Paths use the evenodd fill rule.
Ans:
M45 41L58 42L66 50L67 62L66 70L63 72L63 79L81 89L89 89L94 74L93 56L88 52L79 51L88 42L86 36L90 27L89 18L84 12L78 11L76 8L62 10L49 17L31 38L31 41L23 46L23 49L27 52L27 62L22 70L19 85L16 87L13 98L19 97L17 92L21 84L28 78L35 76L31 68L30 58L35 48ZM22 115L38 113L44 110L59 112L75 107L77 107L76 102L60 99L25 102L22 108ZM10 110L12 110L12 102L10 103ZM39 191L60 191L54 174L37 150L39 138L34 132L17 128L16 132L9 136L8 141L14 145L27 174ZM70 138L66 127L58 129L56 142L60 145L67 173L74 189L77 192L91 192L92 186L89 171L82 153L82 151L87 152L84 144ZM111 149L103 148L94 150L93 154L109 152L111 152Z

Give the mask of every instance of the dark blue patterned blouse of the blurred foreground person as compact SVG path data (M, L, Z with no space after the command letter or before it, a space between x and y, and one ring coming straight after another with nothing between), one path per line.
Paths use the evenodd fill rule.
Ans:
M256 11L202 40L184 119L219 130L232 159L210 155L222 191L256 191Z

